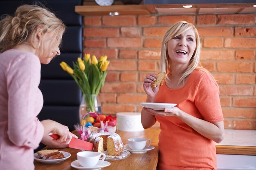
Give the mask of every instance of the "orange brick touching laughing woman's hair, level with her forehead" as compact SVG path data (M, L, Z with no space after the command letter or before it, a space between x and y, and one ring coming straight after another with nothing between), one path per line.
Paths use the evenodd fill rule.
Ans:
M227 26L198 27L197 29L202 37L226 37L233 35L233 28Z

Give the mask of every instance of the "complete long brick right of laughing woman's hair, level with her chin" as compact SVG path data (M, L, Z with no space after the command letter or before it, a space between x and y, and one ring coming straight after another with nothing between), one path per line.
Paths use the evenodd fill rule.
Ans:
M251 62L218 62L217 70L220 72L252 72Z

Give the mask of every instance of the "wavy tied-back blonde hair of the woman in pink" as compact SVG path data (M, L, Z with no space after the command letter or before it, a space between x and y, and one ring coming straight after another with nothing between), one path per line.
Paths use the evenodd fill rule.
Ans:
M7 15L0 20L0 53L23 43L39 49L43 45L41 38L37 47L32 43L32 38L38 31L54 31L61 37L65 29L63 22L45 7L22 5L16 9L14 16Z

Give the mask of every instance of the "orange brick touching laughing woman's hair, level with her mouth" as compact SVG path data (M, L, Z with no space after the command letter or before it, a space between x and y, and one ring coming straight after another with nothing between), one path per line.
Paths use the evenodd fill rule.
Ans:
M234 51L202 50L200 60L234 60Z

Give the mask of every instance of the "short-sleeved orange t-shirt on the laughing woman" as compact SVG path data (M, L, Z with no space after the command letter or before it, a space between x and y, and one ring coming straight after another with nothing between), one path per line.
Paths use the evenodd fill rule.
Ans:
M196 69L182 88L160 86L155 102L176 107L199 119L223 121L219 87L209 73ZM159 170L217 170L215 142L177 117L156 116L160 122Z

